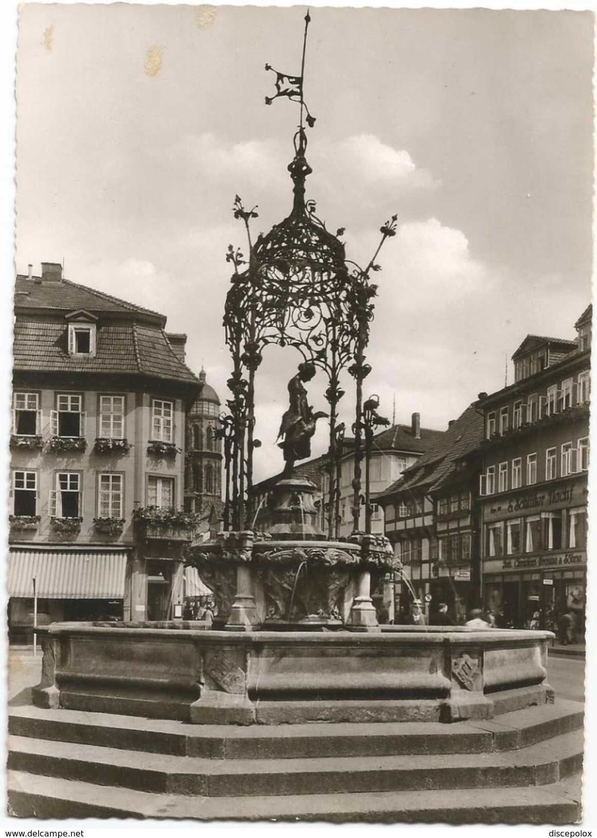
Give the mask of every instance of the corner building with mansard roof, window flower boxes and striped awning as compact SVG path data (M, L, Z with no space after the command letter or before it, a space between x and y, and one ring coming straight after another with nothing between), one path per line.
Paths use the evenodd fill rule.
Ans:
M201 382L166 318L42 263L14 298L11 634L182 602L184 417ZM35 590L34 590L35 588Z

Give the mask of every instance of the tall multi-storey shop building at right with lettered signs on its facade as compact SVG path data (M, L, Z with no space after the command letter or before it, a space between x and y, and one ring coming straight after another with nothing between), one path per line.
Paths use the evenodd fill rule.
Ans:
M528 335L515 383L481 394L482 589L505 625L584 633L592 308L577 338Z

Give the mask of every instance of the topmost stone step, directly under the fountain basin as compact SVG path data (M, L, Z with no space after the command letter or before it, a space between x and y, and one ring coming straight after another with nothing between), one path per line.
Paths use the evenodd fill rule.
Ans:
M584 707L558 701L497 719L445 725L427 722L321 722L296 725L190 725L73 710L11 708L8 732L18 737L81 742L188 757L219 759L399 756L483 753L541 742L582 727Z

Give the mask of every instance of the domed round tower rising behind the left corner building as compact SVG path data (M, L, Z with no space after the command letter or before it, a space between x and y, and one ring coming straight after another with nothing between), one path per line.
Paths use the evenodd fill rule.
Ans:
M203 385L187 412L184 508L200 518L199 529L217 530L222 520L222 440L218 437L220 401L199 373Z

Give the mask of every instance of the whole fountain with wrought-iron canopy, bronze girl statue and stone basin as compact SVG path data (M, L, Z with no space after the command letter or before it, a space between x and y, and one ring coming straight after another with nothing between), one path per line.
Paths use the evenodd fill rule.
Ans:
M553 700L546 683L550 634L539 631L379 626L372 580L400 571L383 536L370 532L367 434L386 422L374 397L363 401L371 371L366 350L383 244L393 215L365 267L347 260L340 239L306 200L306 107L300 75L275 74L275 96L300 108L290 215L251 234L255 209L237 196L247 255L229 246L233 276L224 328L232 357L228 412L221 417L226 504L224 530L188 547L186 561L214 592L219 629L196 623L57 623L44 629L38 706L180 719L198 724L287 722L455 722ZM255 377L264 351L291 347L297 371L280 417L285 468L266 502L255 503ZM325 377L325 410L306 385ZM342 387L355 389L353 534L339 537ZM320 527L317 489L297 476L311 454L317 422L327 420L327 494Z

